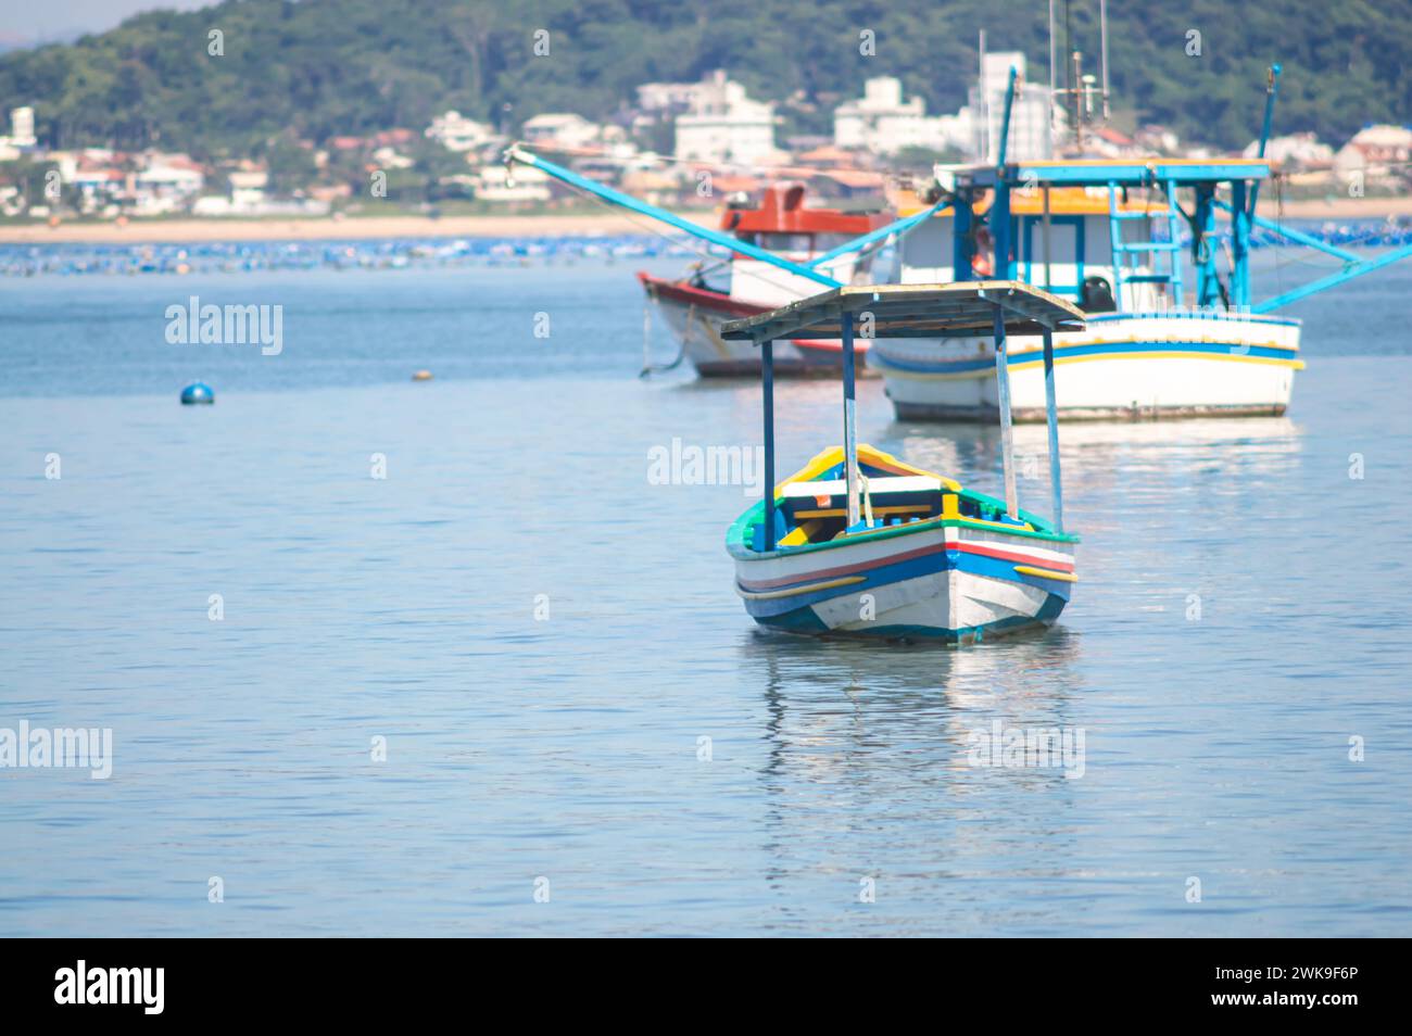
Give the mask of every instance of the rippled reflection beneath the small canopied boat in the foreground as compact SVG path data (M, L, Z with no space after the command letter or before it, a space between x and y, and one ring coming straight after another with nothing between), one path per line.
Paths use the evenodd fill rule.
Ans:
M1082 651L1083 637L1063 625L984 651L743 635L736 672L758 679L764 703L760 867L778 896L775 927L808 927L823 903L836 903L832 915L860 902L867 913L839 923L911 934L1062 924L1062 896L1015 888L997 898L993 886L1083 874L1086 781L970 757L995 723L1082 730ZM1083 737L1086 752L1101 744L1099 731Z

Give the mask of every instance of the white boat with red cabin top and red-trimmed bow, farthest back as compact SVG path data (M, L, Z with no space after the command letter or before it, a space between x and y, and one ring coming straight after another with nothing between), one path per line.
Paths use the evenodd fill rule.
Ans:
M791 263L808 264L851 239L887 226L895 217L882 203L873 212L813 209L805 206L805 186L796 182L772 183L758 209L730 205L722 215L722 230L736 239L765 248ZM819 264L842 284L867 279L871 255L861 260L850 251ZM758 258L731 255L719 267L695 270L669 281L638 272L647 295L676 337L682 354L703 377L760 374L760 350L750 342L726 342L720 325L788 305L819 292L819 284ZM861 364L870 343L858 340ZM796 339L777 342L775 374L830 374L843 366L837 342Z

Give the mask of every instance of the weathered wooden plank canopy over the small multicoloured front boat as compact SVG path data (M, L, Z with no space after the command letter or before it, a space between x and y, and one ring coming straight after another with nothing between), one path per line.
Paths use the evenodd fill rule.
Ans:
M834 288L768 313L727 320L720 336L747 342L840 339L844 313L871 313L871 337L878 339L988 336L995 326L995 306L1004 313L1007 335L1084 326L1082 309L1041 288L1019 281L956 281Z

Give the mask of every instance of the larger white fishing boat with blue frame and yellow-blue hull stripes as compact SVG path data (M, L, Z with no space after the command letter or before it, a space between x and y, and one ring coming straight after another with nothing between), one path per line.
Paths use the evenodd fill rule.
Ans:
M1299 320L1251 305L1247 185L1264 159L1038 161L950 174L952 205L902 244L904 282L966 281L994 270L1067 298L1087 329L1055 353L1066 419L1279 415L1299 359ZM1234 215L1227 278L1217 274L1217 186ZM1182 209L1192 195L1192 217ZM1183 271L1193 227L1195 285ZM986 272L979 272L986 271ZM1017 421L1045 414L1039 340L1011 342ZM993 419L988 339L878 340L898 418Z

